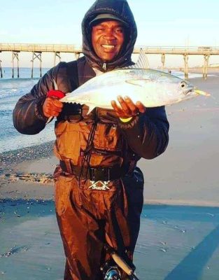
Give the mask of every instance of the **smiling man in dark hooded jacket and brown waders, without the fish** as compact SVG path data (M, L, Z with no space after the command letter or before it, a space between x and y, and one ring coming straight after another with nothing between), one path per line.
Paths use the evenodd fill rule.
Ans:
M163 153L169 130L164 107L146 109L119 92L114 110L96 108L88 115L83 104L47 97L53 80L66 93L105 71L133 64L137 30L126 0L95 1L82 30L84 57L50 69L13 113L15 127L24 134L40 132L48 118L57 117L55 206L65 280L102 279L100 267L105 269L110 259L104 244L132 265L143 207L143 174L136 162Z

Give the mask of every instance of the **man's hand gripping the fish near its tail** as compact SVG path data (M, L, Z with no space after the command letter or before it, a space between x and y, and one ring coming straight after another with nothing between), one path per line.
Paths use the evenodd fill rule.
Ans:
M47 97L43 103L43 114L46 118L57 117L62 112L63 103L55 97Z

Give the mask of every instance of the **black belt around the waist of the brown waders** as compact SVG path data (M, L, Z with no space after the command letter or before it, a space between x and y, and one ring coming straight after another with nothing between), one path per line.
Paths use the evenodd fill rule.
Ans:
M66 173L78 177L81 176L83 179L89 179L95 182L120 179L128 171L128 167L78 167L71 165L71 162L64 162L62 160L60 160L60 167Z

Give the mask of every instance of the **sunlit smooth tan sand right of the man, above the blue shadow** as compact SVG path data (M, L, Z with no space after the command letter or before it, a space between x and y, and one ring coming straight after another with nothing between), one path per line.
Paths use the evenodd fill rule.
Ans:
M191 82L211 97L167 106L167 151L139 163L147 203L219 206L219 77Z

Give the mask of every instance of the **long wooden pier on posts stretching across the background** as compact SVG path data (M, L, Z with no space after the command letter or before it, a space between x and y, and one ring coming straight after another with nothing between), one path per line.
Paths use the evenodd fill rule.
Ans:
M165 67L166 55L182 55L184 60L184 73L185 78L188 78L188 63L190 55L202 55L203 56L203 66L202 74L203 78L206 79L209 69L209 58L211 55L219 55L219 47L211 46L200 46L200 47L156 47L156 46L137 46L134 48L134 54L139 54L140 49L146 53L146 55L161 55L162 70ZM42 53L52 52L54 53L54 65L56 64L56 59L61 60L62 52L73 53L75 59L78 59L82 53L81 46L78 45L56 45L56 44L29 44L29 43L0 43L0 77L3 78L1 62L3 59L3 52L12 53L12 78L14 78L14 68L17 65L17 78L19 78L19 54L20 52L31 52L31 78L33 78L34 70L34 60L40 62L40 76L42 76Z

